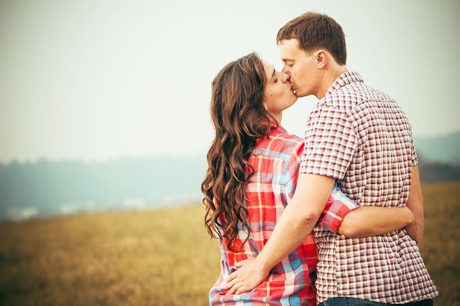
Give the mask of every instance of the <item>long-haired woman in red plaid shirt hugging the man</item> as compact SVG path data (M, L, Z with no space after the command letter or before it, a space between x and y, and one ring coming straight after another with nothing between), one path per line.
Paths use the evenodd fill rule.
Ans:
M275 71L255 53L226 65L212 85L216 136L201 190L205 226L212 237L219 238L222 258L210 304L316 305L309 277L317 263L312 234L254 290L226 294L222 288L238 262L257 256L292 198L303 140L280 125L283 110L297 100L288 75ZM355 203L338 189L336 184L319 220L331 231L350 237L374 236L414 222L407 208L353 210Z

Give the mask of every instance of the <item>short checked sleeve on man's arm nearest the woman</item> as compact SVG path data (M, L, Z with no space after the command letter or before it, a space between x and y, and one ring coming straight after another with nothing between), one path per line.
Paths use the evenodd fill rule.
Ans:
M342 180L357 146L350 118L335 107L323 105L308 119L300 173Z

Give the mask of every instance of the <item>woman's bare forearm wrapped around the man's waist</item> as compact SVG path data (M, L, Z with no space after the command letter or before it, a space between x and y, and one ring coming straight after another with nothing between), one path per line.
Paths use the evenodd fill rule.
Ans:
M415 224L407 207L362 206L345 215L337 233L352 238L383 235Z

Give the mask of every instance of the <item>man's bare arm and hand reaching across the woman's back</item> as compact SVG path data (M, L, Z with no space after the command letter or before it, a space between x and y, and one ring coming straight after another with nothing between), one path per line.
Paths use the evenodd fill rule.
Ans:
M240 294L254 289L270 269L288 256L313 230L334 186L333 177L301 173L292 201L274 227L257 258L230 274L226 289Z

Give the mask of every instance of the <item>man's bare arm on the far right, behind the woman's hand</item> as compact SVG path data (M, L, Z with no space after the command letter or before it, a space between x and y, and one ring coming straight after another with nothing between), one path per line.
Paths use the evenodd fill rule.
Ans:
M417 226L406 227L407 234L409 234L417 244L421 244L423 239L423 196L422 188L420 187L418 165L412 167L412 180L406 206L415 216L417 224ZM416 236L416 238L414 238L414 236Z

